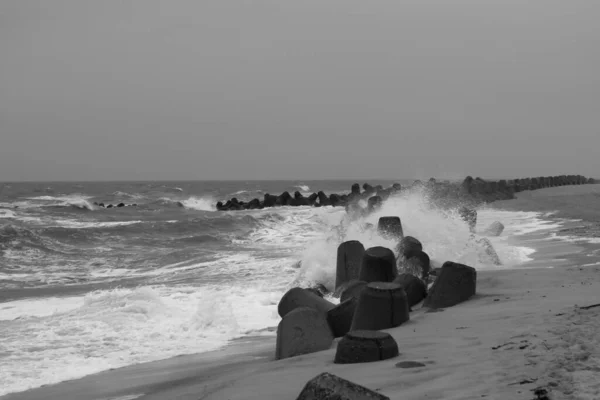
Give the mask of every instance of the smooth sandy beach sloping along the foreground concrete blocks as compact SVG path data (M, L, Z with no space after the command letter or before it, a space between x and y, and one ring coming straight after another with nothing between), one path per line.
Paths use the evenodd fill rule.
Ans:
M593 223L600 216L594 210L600 185L568 188L573 194L566 187L543 189L497 206L535 210L530 207L539 203L542 211ZM581 267L598 261L588 254L599 246L539 239L529 239L539 249L532 268L481 271L471 300L440 312L416 309L408 323L387 330L401 353L391 360L336 365L334 344L272 361L274 340L251 338L220 352L107 371L1 399L291 400L325 371L398 400L533 399L531 390L540 386L551 399L600 399L600 307L578 308L600 303L600 267ZM424 366L402 369L395 366L400 361Z

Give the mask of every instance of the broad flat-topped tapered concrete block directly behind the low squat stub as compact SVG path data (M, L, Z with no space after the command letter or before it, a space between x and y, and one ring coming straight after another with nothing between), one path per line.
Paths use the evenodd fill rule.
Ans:
M372 282L358 298L350 330L394 328L409 319L408 298L402 286L391 282Z

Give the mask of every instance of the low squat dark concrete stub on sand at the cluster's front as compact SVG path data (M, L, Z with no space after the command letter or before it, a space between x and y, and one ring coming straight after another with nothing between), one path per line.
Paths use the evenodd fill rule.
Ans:
M398 344L386 332L358 330L348 332L338 343L335 364L355 364L397 357Z

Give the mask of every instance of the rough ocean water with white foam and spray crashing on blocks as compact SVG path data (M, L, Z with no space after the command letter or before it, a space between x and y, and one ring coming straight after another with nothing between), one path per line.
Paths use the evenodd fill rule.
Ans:
M380 216L400 216L434 265L451 260L477 269L525 267L535 250L515 245L518 237L560 226L539 213L481 210L478 231L493 221L506 227L490 238L496 265L456 215L427 208L419 193L390 198L360 220L332 207L214 209L234 196L343 193L352 183L0 186L0 395L273 335L268 328L279 322L286 290L316 283L333 289L342 241L395 247L369 226Z

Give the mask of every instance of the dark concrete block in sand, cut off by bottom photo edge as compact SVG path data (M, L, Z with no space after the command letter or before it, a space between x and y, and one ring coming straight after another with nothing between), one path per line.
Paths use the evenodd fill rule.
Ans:
M296 400L390 400L389 397L328 372L306 383Z

